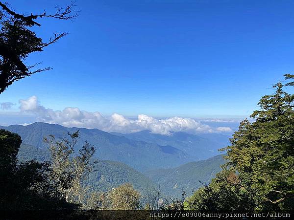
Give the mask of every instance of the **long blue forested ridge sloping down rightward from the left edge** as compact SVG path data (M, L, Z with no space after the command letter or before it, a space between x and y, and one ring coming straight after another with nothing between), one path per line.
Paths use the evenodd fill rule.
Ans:
M77 149L81 148L84 141L88 141L96 147L96 158L120 161L138 171L171 168L194 160L192 156L172 146L130 140L124 136L113 135L98 129L67 128L47 123L0 126L0 128L18 133L24 144L40 149L47 148L43 138L49 134L53 134L55 137L64 137L68 132L79 130L80 140Z

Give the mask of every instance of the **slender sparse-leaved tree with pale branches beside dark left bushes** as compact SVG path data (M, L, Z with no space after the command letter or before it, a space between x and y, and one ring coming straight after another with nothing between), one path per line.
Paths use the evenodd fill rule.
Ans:
M49 178L67 202L83 205L87 203L85 200L91 197L91 189L83 187L82 182L86 181L95 165L95 161L92 161L95 148L85 142L75 154L74 147L78 142L79 131L68 135L69 138L58 140L53 135L50 135L49 139L45 138L51 154Z

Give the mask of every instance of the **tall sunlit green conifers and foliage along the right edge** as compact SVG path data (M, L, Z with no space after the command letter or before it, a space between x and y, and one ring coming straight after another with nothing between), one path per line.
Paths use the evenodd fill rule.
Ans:
M286 75L293 79L294 75ZM273 86L263 96L255 119L244 120L224 148L227 162L209 186L187 199L195 210L293 210L294 99L285 92L293 82Z

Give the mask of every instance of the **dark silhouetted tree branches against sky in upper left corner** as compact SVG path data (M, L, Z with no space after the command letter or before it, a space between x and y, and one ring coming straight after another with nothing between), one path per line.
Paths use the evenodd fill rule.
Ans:
M40 52L44 47L57 42L68 33L54 33L48 42L36 36L29 28L41 26L36 22L42 18L59 20L73 20L78 14L74 10L74 2L65 8L56 7L54 14L18 14L6 3L0 1L0 93L15 81L37 72L51 69L51 67L36 68L40 63L25 65L24 61L32 52Z

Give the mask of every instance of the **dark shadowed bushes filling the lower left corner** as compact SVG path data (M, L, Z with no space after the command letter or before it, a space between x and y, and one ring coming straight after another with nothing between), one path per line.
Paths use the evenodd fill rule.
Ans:
M3 210L75 210L49 180L49 163L17 163L21 137L0 130L0 207Z

